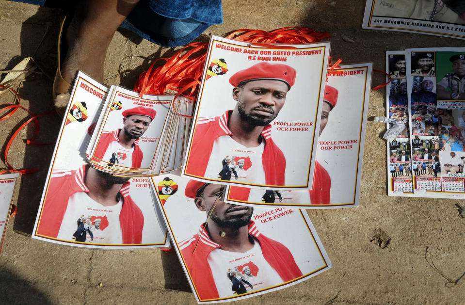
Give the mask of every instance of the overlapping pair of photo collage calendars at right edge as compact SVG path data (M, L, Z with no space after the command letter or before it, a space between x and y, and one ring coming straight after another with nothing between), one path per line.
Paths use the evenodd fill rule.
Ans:
M411 136L388 144L389 195L464 199L465 48L406 49L405 61L399 54L387 52L389 69L399 67L392 75L406 80L393 79L388 113L406 116L397 106L407 100Z

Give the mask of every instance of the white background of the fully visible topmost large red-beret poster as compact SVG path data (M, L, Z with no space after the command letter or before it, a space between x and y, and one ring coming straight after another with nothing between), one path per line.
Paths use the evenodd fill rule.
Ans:
M213 47L211 46L212 44ZM232 97L234 87L229 83L229 78L232 75L260 62L267 62L270 64L287 64L297 71L295 83L288 91L286 102L278 116L270 123L272 125L271 137L286 158L285 183L287 188L310 189L315 161L316 139L318 137L320 125L320 115L317 115L317 113L321 113L322 94L319 95L319 93L320 91L322 92L324 88L324 77L326 75L326 63L330 43L293 45L298 48L296 50L284 48L250 48L252 50L272 52L272 55L265 56L244 54L223 48L216 48L215 46L217 44L234 45L241 49L249 49L246 47L249 45L248 43L212 36L210 40L210 48L212 48L212 50L211 53L208 53L209 56L207 56L205 70L208 68L208 65L212 60L220 58L225 60L228 70L225 74L213 76L208 80L205 80L204 72L202 87L200 88L196 110L194 111L195 120L192 124L193 126L189 143L192 144L192 132L194 130L196 120L208 116L221 116L224 112L235 108L237 101L235 101ZM289 54L291 54L292 51L299 51L301 48L323 48L323 50L321 51L321 54L305 56L273 55L273 52L289 52ZM249 56L266 57L269 58L269 60L248 60L247 58ZM273 57L285 57L287 61L273 61ZM311 122L313 126L304 126L308 128L308 131L282 131L278 130L278 127L282 126L277 126L277 122ZM315 137L313 138L314 131ZM189 149L190 148L188 147L188 153ZM195 162L195 160L193 160L193 162ZM219 172L222 168L221 160L218 161L218 164ZM309 167L310 171L308 171ZM185 169L183 174L189 175ZM307 187L306 181L308 175L310 175L310 179L308 179ZM197 179L197 177L192 176L186 177ZM221 181L221 183L228 184L227 181ZM245 182L235 182L234 179L231 179L229 183L236 185L247 184ZM259 185L253 185L252 187L260 188ZM266 189L266 187L262 188ZM285 187L274 186L274 188Z

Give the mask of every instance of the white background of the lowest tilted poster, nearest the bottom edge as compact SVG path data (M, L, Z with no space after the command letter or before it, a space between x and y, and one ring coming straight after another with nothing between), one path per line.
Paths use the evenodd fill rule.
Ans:
M161 205L159 201L160 209L162 210L163 218L168 226L170 237L173 240L173 246L176 253L181 261L181 265L186 273L189 284L191 285L192 291L197 302L200 303L218 303L218 302L229 302L238 299L244 299L251 296L267 293L270 291L283 289L285 287L292 286L296 283L304 281L311 276L326 271L332 267L332 264L327 256L323 245L313 227L310 219L308 218L305 210L293 209L293 212L279 218L274 218L272 221L265 222L266 217L261 217L263 213L267 213L269 209L255 208L254 216L252 220L257 225L257 229L260 234L263 234L275 241L279 241L285 245L292 253L296 264L304 274L304 277L290 282L286 285L265 289L259 292L252 292L243 294L241 296L227 299L215 299L208 301L199 300L198 295L195 293L193 286L203 285L203 283L192 283L189 273L186 270L186 266L183 263L182 256L178 247L178 243L192 237L197 234L200 229L200 225L206 221L206 212L200 211L194 204L194 199L185 196L184 191L189 179L183 177L177 177L174 175L161 175L158 177L151 177L155 192L158 193L158 183L165 177L173 179L177 185L177 192L171 195L164 205ZM274 209L274 215L285 211L286 209ZM269 216L270 217L270 216ZM292 238L289 238L292 237ZM317 271L318 270L318 271ZM215 288L213 288L215 289Z

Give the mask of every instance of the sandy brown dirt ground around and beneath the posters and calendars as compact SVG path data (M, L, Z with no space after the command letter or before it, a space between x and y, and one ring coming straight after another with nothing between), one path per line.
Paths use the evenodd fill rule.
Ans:
M385 51L461 47L464 40L362 30L364 0L223 0L224 24L208 34L236 29L273 30L305 26L332 34L332 56L343 63L372 61L385 70ZM56 36L64 12L0 1L0 69L34 56L44 74L31 75L19 89L21 105L34 113L52 110ZM349 39L348 39L349 38ZM353 41L353 42L352 42ZM132 87L154 59L171 54L126 31L117 32L105 62L105 83ZM375 73L373 83L383 82ZM0 94L0 107L11 100ZM369 116L385 112L385 90L371 91ZM6 139L27 113L0 124L1 156ZM39 141L54 141L60 120L41 119ZM334 265L291 288L238 304L464 304L465 285L447 280L425 259L427 247L442 273L465 273L465 212L459 200L388 197L382 124L368 122L360 206L307 210ZM10 219L0 255L0 304L195 304L174 253L159 250L87 250L31 239L53 145L26 145L32 127L21 131L8 155L16 168L39 171L20 178L18 213ZM0 163L1 168L6 166ZM464 279L462 279L464 282Z

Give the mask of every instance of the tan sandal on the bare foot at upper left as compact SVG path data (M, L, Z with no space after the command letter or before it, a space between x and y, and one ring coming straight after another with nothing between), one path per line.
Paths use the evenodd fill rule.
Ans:
M57 52L57 72L55 74L55 80L53 80L53 106L55 107L56 112L61 117L64 116L64 111L68 105L70 98L70 89L71 84L64 80L61 72L61 40L63 38L63 29L64 23L66 21L66 16L63 18L63 21L60 25L60 31L58 33L58 52Z

